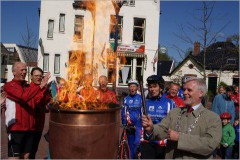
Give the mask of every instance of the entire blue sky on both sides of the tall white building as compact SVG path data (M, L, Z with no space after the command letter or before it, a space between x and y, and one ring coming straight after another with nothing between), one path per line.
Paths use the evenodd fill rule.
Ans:
M167 47L168 54L176 61L182 59L173 45L177 45L183 50L193 46L177 39L174 33L180 33L178 27L180 24L196 24L198 22L193 20L191 15L197 14L196 9L200 9L200 6L201 2L199 1L161 1L159 44ZM28 19L30 28L38 34L38 8L40 8L40 1L1 1L1 42L21 44L21 34L26 32L26 19ZM229 35L239 34L238 1L217 1L213 16L217 17L213 22L215 30L229 22L221 32L222 38L219 38L219 41L225 41ZM194 36L194 34L189 32L189 35L193 40L200 41L199 37Z

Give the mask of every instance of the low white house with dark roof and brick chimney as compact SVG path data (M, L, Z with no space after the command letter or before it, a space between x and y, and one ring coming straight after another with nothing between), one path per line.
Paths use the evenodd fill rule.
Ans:
M182 77L203 78L203 51L195 42L192 55L188 55L169 76L167 81L181 83ZM239 85L239 49L232 42L215 42L206 50L206 84L211 94L216 94L220 82L226 85Z

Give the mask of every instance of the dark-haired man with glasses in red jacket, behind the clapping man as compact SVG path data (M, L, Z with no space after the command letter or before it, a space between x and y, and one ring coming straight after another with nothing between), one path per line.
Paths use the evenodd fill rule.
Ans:
M39 86L42 82L43 78L43 70L39 67L34 67L31 70L31 87ZM44 128L45 123L45 113L48 112L47 104L51 100L51 93L48 89L42 90L35 96L31 102L31 104L34 104L35 109L35 131L33 136L33 150L30 154L30 159L35 159L37 150L38 150L38 144L42 137L42 132Z

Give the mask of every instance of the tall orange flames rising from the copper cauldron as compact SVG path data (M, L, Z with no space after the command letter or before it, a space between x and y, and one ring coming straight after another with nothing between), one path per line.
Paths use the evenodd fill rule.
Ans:
M62 109L98 110L108 109L108 104L99 101L100 93L93 88L102 70L116 70L116 53L106 54L109 47L110 15L115 15L113 1L80 1L86 9L84 15L83 43L77 44L77 36L73 36L70 44L72 51L69 55L68 80L58 89L57 100L53 105ZM115 20L117 24L118 21ZM113 28L110 28L112 30ZM105 54L104 54L105 53ZM100 62L100 64L99 64ZM102 64L102 65L101 65ZM116 73L112 77L115 80ZM82 87L80 91L79 87Z

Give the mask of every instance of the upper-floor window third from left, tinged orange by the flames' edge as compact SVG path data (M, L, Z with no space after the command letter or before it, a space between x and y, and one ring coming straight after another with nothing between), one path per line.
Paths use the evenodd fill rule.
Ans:
M74 23L74 40L83 40L83 16L76 15Z

